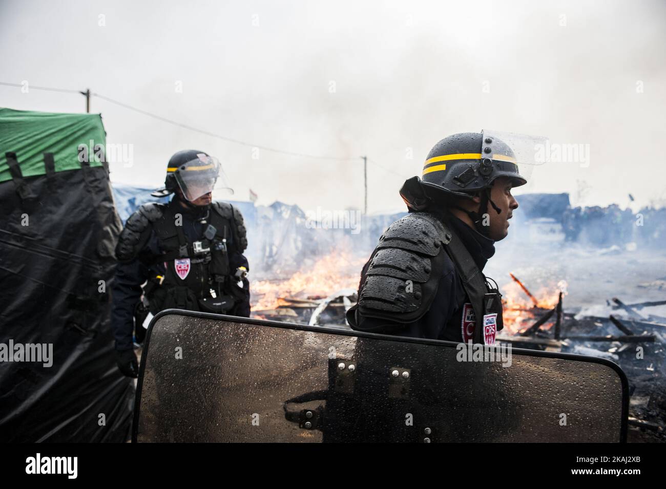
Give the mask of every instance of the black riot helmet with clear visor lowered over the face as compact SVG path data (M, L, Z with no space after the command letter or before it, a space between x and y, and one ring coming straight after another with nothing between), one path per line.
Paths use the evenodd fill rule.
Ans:
M166 165L165 188L153 192L152 195L163 197L180 188L183 197L192 202L211 192L219 176L220 163L217 158L203 151L178 151Z

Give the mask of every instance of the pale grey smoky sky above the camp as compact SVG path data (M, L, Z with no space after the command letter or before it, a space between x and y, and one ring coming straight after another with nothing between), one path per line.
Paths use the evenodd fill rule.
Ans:
M100 26L103 15L104 26ZM159 186L168 157L204 150L238 200L304 209L403 207L398 189L454 132L494 128L589 144L589 166L534 168L521 192L574 204L663 204L663 1L0 1L0 81L91 88L107 142L133 144L112 180ZM257 25L258 24L258 25ZM182 82L182 92L176 84ZM330 92L334 82L335 92ZM641 91L642 90L642 91ZM0 106L79 112L83 96L0 86ZM407 156L412 148L413 159Z

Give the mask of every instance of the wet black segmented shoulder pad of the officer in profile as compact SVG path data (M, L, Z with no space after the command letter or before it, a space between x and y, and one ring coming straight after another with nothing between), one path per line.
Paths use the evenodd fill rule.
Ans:
M435 297L446 265L444 245L451 234L425 213L394 222L372 253L358 299L363 316L410 323L422 317Z

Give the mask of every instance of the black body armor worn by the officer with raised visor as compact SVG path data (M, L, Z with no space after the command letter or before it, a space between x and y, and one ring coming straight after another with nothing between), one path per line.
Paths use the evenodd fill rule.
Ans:
M348 311L348 322L358 331L399 335L406 325L428 313L440 279L453 272L464 289L456 309L462 309L468 322L474 323L470 339L494 341L495 333L502 329L499 291L487 285L456 232L427 212L408 214L382 235L364 267L358 304ZM442 319L447 323L459 320ZM463 333L461 341L464 337Z

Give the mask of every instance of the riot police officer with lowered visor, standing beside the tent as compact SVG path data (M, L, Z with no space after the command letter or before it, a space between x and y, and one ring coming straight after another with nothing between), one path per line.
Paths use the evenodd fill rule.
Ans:
M137 337L145 332L141 318L147 311L250 315L243 217L231 204L211 198L218 160L202 151L179 151L166 172L165 188L153 195L174 194L172 200L141 206L127 220L116 247L111 322L117 363L129 377L138 373L133 329Z

